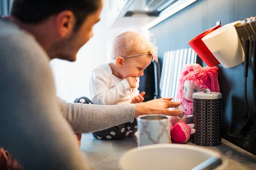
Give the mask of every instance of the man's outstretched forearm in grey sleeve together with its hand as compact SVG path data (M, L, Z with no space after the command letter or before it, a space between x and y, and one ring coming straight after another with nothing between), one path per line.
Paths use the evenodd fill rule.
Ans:
M121 123L130 122L143 114L165 114L180 116L182 111L168 110L180 105L172 98L161 98L149 102L125 105L86 105L67 103L58 98L58 105L75 133L86 133L104 130Z

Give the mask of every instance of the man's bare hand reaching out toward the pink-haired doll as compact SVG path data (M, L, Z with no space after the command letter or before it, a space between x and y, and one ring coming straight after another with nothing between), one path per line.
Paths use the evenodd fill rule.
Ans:
M183 111L169 111L168 108L175 108L180 105L180 102L172 102L172 98L160 98L154 99L148 102L135 104L134 117L138 117L143 114L164 114L169 116L180 116Z

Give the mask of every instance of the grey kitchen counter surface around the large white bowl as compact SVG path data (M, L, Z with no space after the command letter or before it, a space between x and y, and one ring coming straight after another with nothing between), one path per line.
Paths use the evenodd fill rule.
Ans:
M89 133L84 133L81 140L81 150L87 154L97 170L119 170L119 158L135 147L137 147L136 136L120 140L99 140L94 139ZM218 151L225 156L228 160L227 170L256 170L256 156L225 139L222 139L222 144L219 146L204 148Z

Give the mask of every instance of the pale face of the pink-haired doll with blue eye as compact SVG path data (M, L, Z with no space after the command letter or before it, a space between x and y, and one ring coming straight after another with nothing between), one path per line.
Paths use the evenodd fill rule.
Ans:
M186 80L183 85L183 97L188 101L193 101L192 95L195 92L202 92L204 89L202 89L200 86L195 85L195 83L190 83L189 80Z

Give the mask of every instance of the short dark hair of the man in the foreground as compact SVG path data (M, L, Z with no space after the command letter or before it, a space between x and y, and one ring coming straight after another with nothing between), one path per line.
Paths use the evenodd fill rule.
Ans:
M36 24L54 14L70 10L76 17L78 30L88 15L99 9L101 0L14 0L11 16L23 23Z

